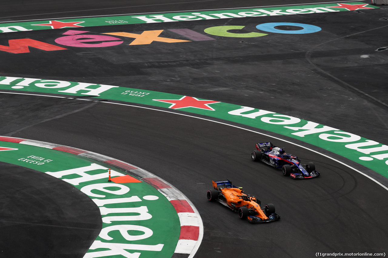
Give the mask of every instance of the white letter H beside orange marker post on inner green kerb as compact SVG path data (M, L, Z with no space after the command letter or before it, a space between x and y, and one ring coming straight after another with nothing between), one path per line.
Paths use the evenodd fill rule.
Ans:
M101 173L95 174L95 175L89 175L86 172L90 172L93 170L102 170ZM87 182L87 181L92 181L96 179L102 179L107 176L106 174L107 168L103 167L101 165L98 165L96 163L92 163L87 167L80 167L76 169L68 169L68 170L63 170L63 171L58 171L58 172L46 172L46 174L52 175L56 178L61 178L65 175L79 175L80 177L74 178L74 179L62 179L63 181L66 181L70 184L73 184L74 186L79 185L82 182ZM119 172L116 172L114 170L111 170L111 176L119 176L122 175Z

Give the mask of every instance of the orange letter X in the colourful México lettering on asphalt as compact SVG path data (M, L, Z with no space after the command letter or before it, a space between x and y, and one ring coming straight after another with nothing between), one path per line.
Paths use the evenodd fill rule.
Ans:
M161 42L167 42L167 43L190 41L190 40L175 40L173 38L158 37L159 34L162 33L162 31L163 29L158 31L143 31L142 34L134 34L134 33L127 33L127 32L114 32L114 33L103 33L103 34L135 38L135 40L132 41L132 43L129 45L151 44L152 41L161 41Z

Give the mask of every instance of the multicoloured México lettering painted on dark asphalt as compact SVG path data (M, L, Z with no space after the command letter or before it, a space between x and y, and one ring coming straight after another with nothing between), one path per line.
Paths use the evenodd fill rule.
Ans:
M276 28L277 26L291 26L298 28L297 30L281 30ZM244 26L215 26L204 29L204 32L213 36L222 36L222 37L231 37L231 38L253 38L266 36L268 34L250 32L250 33L235 33L230 32L230 30L241 30ZM301 29L300 29L301 28ZM256 29L271 33L282 33L282 34L306 34L306 33L315 33L321 30L320 27L303 24L303 23L290 23L290 22L272 22L264 23L256 26ZM189 42L189 41L204 41L204 40L216 40L210 36L192 31L191 29L168 29L167 31L173 32L180 36L187 38L188 40L179 40L174 38L166 38L160 36L164 30L155 30L155 31L143 31L140 34L128 33L128 32L114 32L114 33L102 33L109 34L114 36L120 36L123 38L133 38L132 42L129 45L148 45L152 42L163 42L163 43L179 43L179 42ZM82 47L82 48L100 48L107 46L116 46L124 42L122 38L117 38L107 35L99 34L84 34L89 31L75 31L69 30L62 36L55 39L55 43L62 46L71 46L71 47ZM24 39L15 39L9 40L8 46L0 45L0 51L8 53L29 53L29 47L38 48L44 51L55 51L55 50L66 50L67 48L52 45L38 40L33 40L29 38Z

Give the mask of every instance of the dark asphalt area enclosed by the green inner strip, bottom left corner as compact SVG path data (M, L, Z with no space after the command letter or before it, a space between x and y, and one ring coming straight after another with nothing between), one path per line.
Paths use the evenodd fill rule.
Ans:
M90 198L40 171L0 167L1 257L82 257L102 226Z

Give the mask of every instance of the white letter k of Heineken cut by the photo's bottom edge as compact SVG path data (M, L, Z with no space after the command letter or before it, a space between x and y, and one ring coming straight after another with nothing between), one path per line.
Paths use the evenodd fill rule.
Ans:
M83 258L97 258L105 256L119 256L126 258L139 258L140 253L130 253L126 250L144 250L144 251L161 251L164 244L146 245L146 244L119 244L104 243L99 240L93 242L89 249L107 248L109 250L86 253Z

